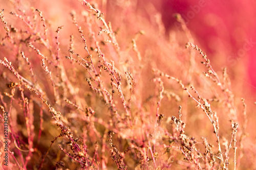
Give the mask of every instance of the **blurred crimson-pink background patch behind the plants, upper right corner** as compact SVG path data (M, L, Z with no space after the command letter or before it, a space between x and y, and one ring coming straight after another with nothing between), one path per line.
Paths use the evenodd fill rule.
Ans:
M167 31L181 30L173 17L174 13L180 13L196 38L195 43L217 67L236 70L244 66L247 72L241 81L246 88L256 92L255 1L162 0L156 7ZM236 71L230 74L237 79L241 75Z

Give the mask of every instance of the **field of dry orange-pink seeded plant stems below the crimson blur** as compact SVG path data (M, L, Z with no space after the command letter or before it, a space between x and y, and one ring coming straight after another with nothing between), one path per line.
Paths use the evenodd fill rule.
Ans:
M1 169L256 169L246 59L153 4L0 1Z

